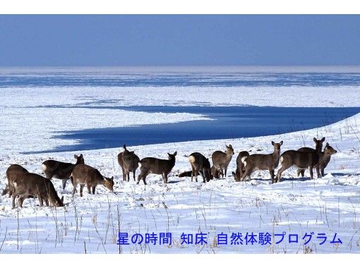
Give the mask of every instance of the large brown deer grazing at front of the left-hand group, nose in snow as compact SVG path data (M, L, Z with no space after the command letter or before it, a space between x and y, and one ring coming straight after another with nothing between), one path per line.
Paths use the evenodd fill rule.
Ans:
M54 184L47 178L35 173L23 173L13 181L13 209L15 208L15 199L18 199L18 206L23 207L23 201L26 198L37 197L40 202L40 207L49 203L54 207L64 207L64 196L59 198Z

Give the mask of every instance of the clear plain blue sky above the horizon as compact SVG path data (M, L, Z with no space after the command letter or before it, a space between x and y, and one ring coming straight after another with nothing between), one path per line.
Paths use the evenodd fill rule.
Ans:
M360 16L0 16L0 66L360 65Z

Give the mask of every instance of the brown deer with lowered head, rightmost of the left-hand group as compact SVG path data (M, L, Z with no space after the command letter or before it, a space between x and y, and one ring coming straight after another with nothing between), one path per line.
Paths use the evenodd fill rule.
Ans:
M70 178L71 181L73 181L73 195L76 193L76 187L80 184L80 197L83 197L85 184L88 188L88 193L92 193L92 195L95 195L95 188L98 184L104 185L111 192L114 190L114 176L107 178L103 176L99 170L87 164L78 164L75 166Z

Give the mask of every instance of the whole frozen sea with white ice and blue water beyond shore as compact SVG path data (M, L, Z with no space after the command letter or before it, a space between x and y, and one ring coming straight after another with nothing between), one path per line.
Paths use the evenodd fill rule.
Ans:
M95 150L317 128L360 111L359 71L1 68L0 152Z

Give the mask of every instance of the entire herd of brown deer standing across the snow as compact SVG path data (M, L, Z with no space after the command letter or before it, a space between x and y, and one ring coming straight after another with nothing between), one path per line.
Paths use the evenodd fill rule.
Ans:
M280 182L282 172L289 169L291 166L298 168L298 176L304 177L305 169L309 169L310 177L313 179L313 168L316 169L317 176L320 178L324 176L324 169L330 162L330 157L337 151L334 150L328 143L326 143L323 150L323 142L325 138L317 140L313 138L315 142L315 149L310 147L302 147L299 150L289 150L280 155L280 147L282 141L279 143L272 142L274 151L271 154L249 154L246 151L239 153L236 158L236 171L232 172L235 181L244 181L246 177L250 179L251 173L256 170L268 170L271 176L271 182ZM195 177L198 181L198 175L203 177L203 182L210 181L212 178L222 178L227 176L227 167L229 166L232 156L234 155L234 149L232 145L227 146L226 152L216 151L212 154L212 166L208 158L204 157L199 152L193 152L188 156L188 160L191 164L191 171L180 173L179 177L191 176L191 181ZM128 151L126 145L124 145L124 152L119 153L118 162L121 166L124 181L129 181L130 172L133 172L133 179L136 181L136 169L140 168L140 174L138 175L137 184L140 180L146 184L146 176L148 174L162 175L162 180L167 183L167 177L175 166L174 154L169 154L169 159L158 159L154 157L140 158L133 151ZM59 198L50 181L51 178L59 178L62 180L63 189L66 186L66 181L71 180L73 184L73 195L76 193L77 185L80 184L80 197L83 196L83 188L86 185L89 194L95 194L95 188L97 185L104 185L109 190L113 190L114 176L107 178L103 176L100 171L88 166L84 162L83 154L77 156L75 154L76 164L59 162L56 160L47 160L42 163L42 171L44 171L45 177L36 173L30 173L28 170L18 164L12 164L6 170L6 177L8 178L8 185L4 189L2 195L8 193L9 197L12 197L12 205L15 208L15 200L18 197L18 205L22 207L23 200L30 197L37 197L40 202L40 206L43 205L43 201L48 206L49 203L56 207L64 206L64 197ZM278 164L282 167L277 171L275 180L275 169Z

